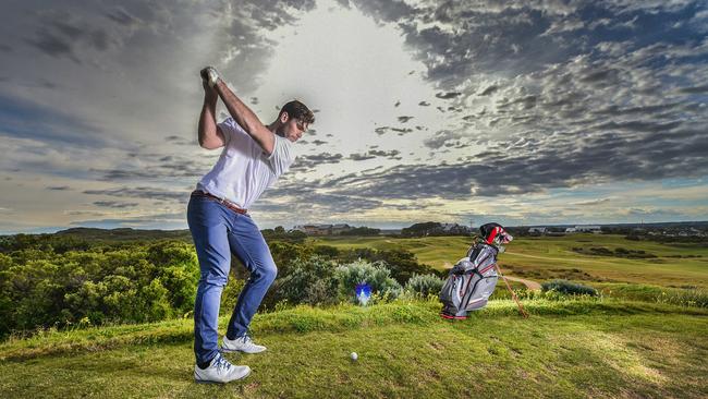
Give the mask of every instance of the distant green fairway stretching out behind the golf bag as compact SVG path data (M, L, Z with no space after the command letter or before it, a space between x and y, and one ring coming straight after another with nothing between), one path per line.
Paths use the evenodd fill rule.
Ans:
M404 249L418 262L438 269L449 268L466 254L472 239L465 237L426 237L396 239L317 238L315 244L338 249ZM573 247L605 247L645 251L655 258L626 258L582 254ZM565 237L521 237L506 245L499 264L510 276L539 281L553 278L598 282L651 283L662 287L708 288L708 247L700 244L672 244L631 241L614 234L570 234Z

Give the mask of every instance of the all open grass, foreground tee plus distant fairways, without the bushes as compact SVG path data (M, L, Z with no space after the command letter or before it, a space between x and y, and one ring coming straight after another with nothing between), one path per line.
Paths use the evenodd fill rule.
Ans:
M315 242L403 247L444 268L469 240ZM573 251L579 246L607 251ZM500 264L510 276L575 280L601 295L529 292L512 282L528 319L502 281L495 300L464 322L441 319L435 299L258 314L252 329L269 350L229 354L253 374L225 386L194 384L191 319L50 329L0 343L0 397L708 397L708 249L574 234L520 238L508 250ZM227 322L220 318L222 332Z

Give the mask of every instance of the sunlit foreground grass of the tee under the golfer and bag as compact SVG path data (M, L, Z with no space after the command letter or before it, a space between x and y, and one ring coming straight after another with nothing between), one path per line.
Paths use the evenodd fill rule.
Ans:
M47 331L0 344L0 396L708 396L705 309L612 299L525 306L528 319L502 300L464 322L439 318L436 301L258 315L254 334L268 351L229 354L253 374L225 386L193 382L191 321Z

